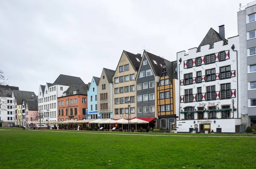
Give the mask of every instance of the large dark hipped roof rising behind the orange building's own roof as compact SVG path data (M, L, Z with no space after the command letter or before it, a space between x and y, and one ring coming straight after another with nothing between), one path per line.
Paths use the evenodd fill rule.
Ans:
M50 83L48 83L48 84L50 84ZM84 82L82 81L82 79L80 77L60 74L60 76L58 76L58 78L55 80L55 82L53 82L53 84L51 84L49 86L52 86L52 85L70 86L71 84L80 85L80 84L84 84Z

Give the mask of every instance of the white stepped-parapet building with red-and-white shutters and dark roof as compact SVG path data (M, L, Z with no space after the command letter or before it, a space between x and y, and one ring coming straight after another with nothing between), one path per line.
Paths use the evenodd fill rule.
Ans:
M198 48L177 53L180 80L178 132L240 132L237 77L239 36L210 28ZM179 65L180 64L180 65Z

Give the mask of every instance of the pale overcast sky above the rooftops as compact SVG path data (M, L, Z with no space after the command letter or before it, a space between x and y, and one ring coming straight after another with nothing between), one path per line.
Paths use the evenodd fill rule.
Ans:
M123 50L176 59L209 28L237 35L237 12L251 0L0 0L0 70L34 91L59 74L88 83L116 69Z

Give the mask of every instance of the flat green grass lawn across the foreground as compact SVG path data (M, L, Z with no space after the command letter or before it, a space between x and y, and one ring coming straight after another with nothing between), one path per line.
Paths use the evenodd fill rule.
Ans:
M3 129L9 128L0 128L0 169L256 168L254 135L106 135L101 133L109 132Z

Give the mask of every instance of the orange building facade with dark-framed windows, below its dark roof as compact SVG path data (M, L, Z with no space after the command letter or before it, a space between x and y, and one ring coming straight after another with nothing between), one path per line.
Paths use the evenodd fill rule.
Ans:
M58 121L83 120L87 115L87 95L74 94L58 98Z

